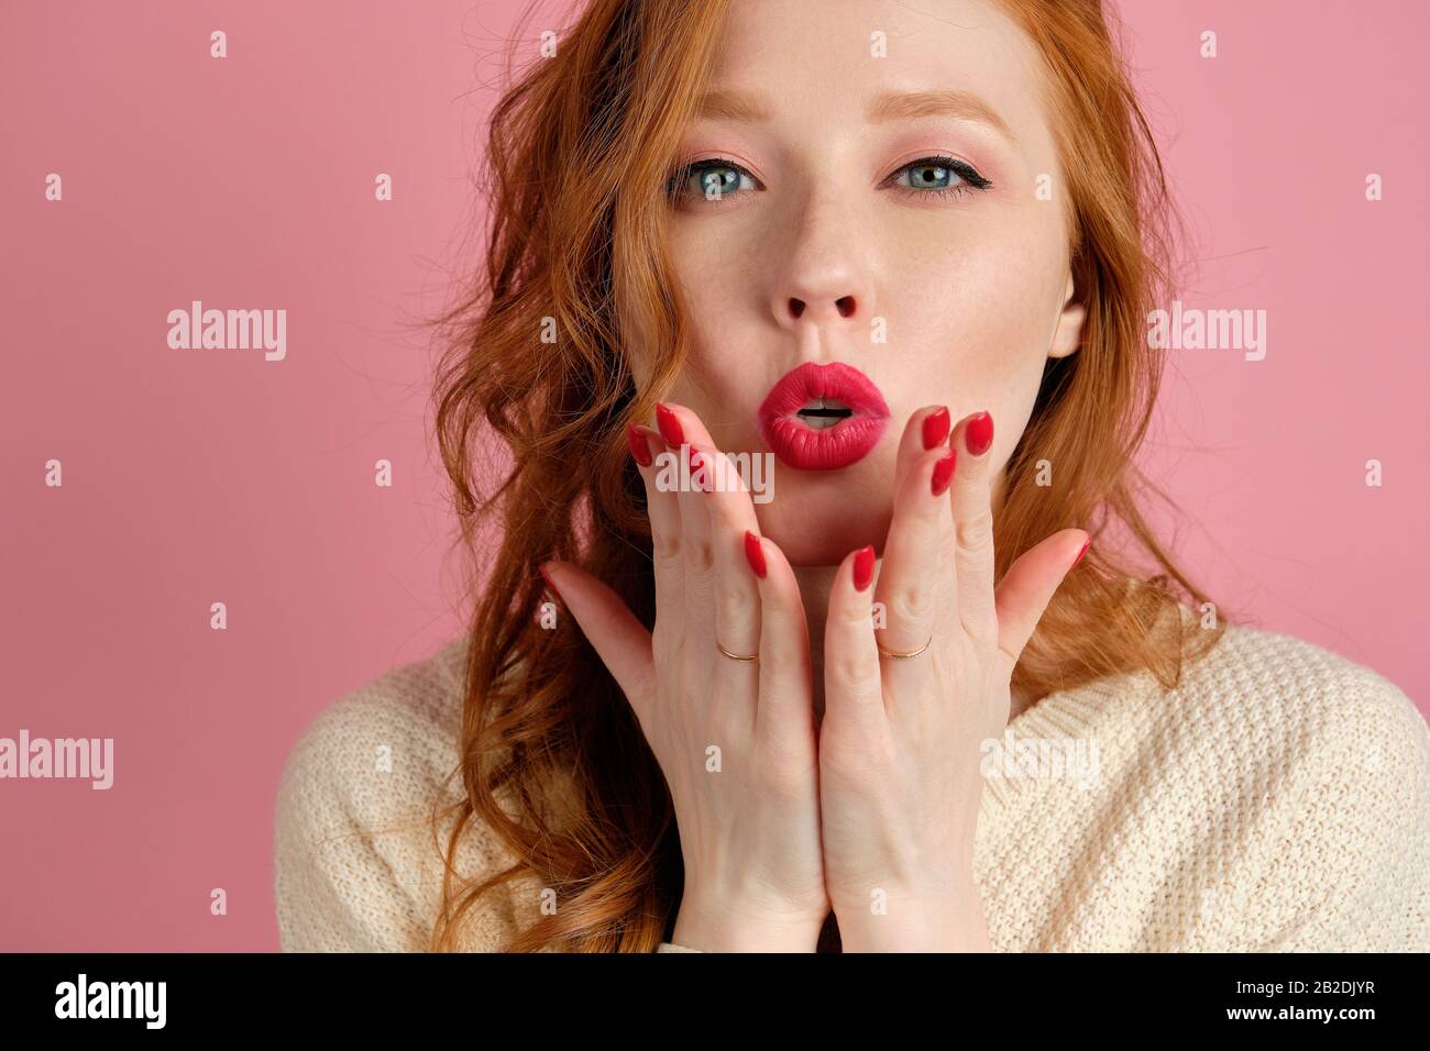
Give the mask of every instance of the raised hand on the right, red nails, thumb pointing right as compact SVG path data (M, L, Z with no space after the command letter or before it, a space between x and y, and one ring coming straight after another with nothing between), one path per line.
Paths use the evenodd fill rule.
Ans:
M1014 665L1088 541L1054 533L995 591L992 419L948 423L940 406L909 418L878 582L862 548L829 595L819 806L847 952L991 949L974 882L982 742L1002 736Z

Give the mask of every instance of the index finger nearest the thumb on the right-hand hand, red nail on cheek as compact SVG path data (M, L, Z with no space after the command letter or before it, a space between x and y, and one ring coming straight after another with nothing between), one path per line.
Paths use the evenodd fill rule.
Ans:
M958 450L958 469L948 488L958 621L971 639L991 646L998 642L992 596L992 416L987 412L965 416L950 442Z

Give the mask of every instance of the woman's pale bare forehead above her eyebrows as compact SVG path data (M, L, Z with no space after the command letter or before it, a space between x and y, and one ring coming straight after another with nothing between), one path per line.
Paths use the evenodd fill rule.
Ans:
M854 129L888 93L948 92L1048 163L1051 117L1032 41L994 0L731 0L709 89L759 99L771 124Z

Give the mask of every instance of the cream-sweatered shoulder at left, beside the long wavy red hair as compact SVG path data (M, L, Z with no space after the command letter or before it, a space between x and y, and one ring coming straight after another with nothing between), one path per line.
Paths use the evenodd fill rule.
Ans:
M290 749L275 804L283 949L420 951L440 899L443 808L462 798L466 636L353 689ZM468 822L460 877L502 854ZM492 945L500 917L485 918Z

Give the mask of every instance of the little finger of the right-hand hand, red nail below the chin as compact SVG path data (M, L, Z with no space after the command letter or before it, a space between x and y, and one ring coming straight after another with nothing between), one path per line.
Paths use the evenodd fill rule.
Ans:
M884 676L874 646L872 579L877 571L872 546L845 555L829 588L824 622L824 718L838 719L854 732L881 726Z

